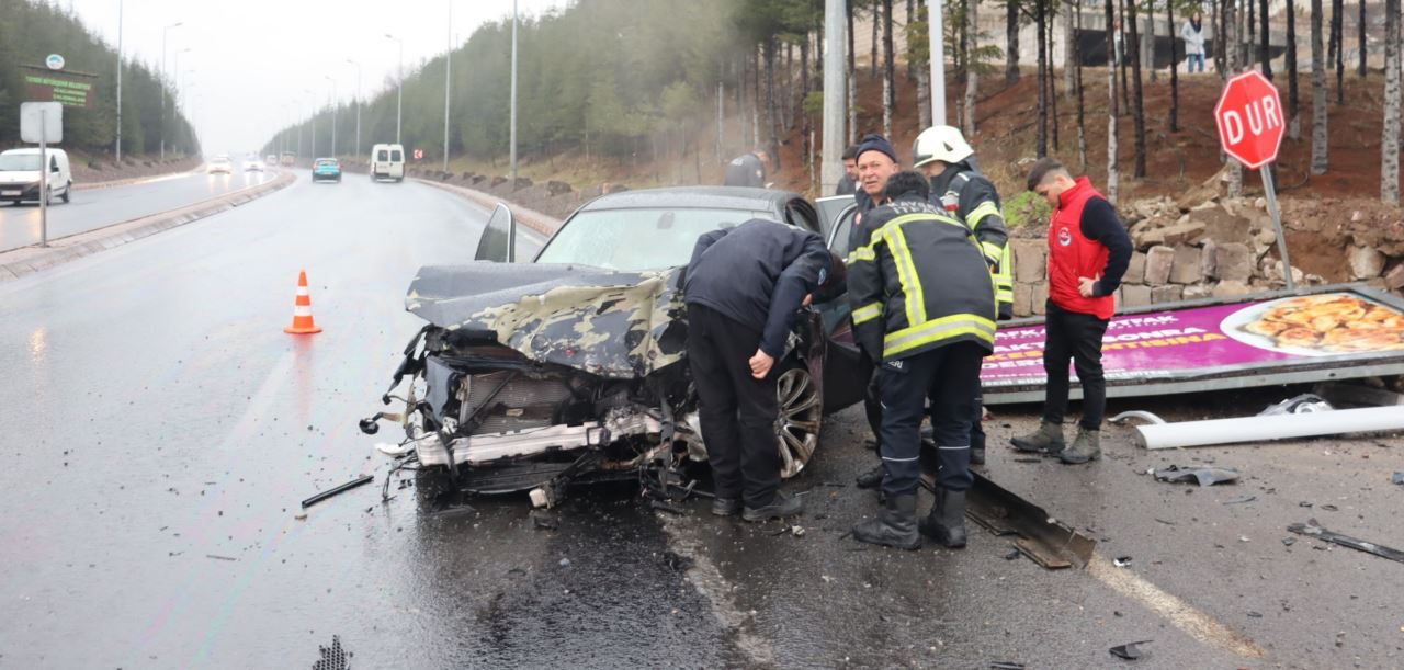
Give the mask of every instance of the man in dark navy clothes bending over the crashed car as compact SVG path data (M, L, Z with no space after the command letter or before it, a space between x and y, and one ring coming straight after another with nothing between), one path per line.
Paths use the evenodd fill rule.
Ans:
M803 511L779 493L775 361L816 289L838 295L844 264L819 233L753 219L698 237L684 277L688 364L716 485L712 514L747 521Z

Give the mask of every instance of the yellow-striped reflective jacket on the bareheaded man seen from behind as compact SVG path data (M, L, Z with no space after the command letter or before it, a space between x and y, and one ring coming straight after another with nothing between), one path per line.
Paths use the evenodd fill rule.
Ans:
M970 229L918 197L866 215L872 236L848 256L859 346L890 361L958 341L994 350L994 280Z

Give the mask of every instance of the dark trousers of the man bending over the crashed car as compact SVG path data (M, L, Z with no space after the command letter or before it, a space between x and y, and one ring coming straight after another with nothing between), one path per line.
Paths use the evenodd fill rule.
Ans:
M688 305L688 364L716 496L740 499L751 508L771 504L781 485L779 361L765 379L753 378L748 361L760 344L760 330Z

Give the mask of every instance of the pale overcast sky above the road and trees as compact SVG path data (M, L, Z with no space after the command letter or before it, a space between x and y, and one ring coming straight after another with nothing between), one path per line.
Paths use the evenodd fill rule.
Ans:
M51 3L53 0L49 0ZM369 98L393 81L404 39L404 70L448 45L452 1L455 44L483 22L511 15L512 0L125 0L122 49L128 59L159 66L161 28L171 28L166 53L171 79L180 53L187 110L208 153L257 150L272 132L305 115L313 100L361 93ZM124 0L59 0L88 29L117 45ZM519 0L522 15L539 15L569 0ZM310 90L312 94L303 93Z

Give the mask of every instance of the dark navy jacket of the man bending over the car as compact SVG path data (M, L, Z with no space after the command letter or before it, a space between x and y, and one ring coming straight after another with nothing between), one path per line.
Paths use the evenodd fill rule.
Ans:
M751 219L698 237L682 294L760 330L760 348L785 354L790 317L828 272L828 249L819 233Z

